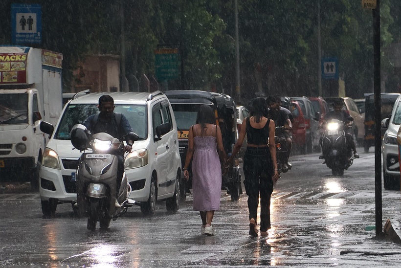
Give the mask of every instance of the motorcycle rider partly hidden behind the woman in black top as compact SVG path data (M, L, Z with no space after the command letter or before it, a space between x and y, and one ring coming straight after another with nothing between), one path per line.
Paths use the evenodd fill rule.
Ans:
M291 112L283 107L280 107L279 103L281 103L281 99L278 96L269 96L267 98L267 104L269 106L268 118L272 119L276 123L276 127L287 128L287 130L284 132L284 136L286 137L284 146L287 151L286 163L284 163L284 165L287 165L287 167L290 168L292 165L288 162L288 159L290 158L292 140L289 131L292 130L292 123L288 112Z

